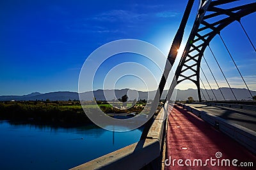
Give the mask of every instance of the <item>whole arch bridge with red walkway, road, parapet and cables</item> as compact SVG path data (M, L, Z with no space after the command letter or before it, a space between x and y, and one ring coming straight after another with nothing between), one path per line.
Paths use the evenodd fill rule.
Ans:
M140 141L72 169L188 169L188 166L227 169L228 163L232 164L232 169L236 169L236 166L256 166L256 106L253 101L255 94L253 95L249 89L250 86L236 63L230 48L232 43L222 34L229 25L238 23L247 39L246 43L253 52L256 52L253 40L242 22L243 17L256 11L255 2L199 2L195 22L175 69L164 106L158 115L154 114L172 69L170 66L173 66L177 58L194 3L194 0L188 1L180 27L173 39L157 95L150 110L150 114L154 116L148 118L144 125ZM218 48L214 48L213 41L216 41L216 38L220 40L218 45L222 45L227 53L225 57L230 59L238 77L244 83L248 95L246 100L249 101L239 101L239 96L232 89L223 64L221 65L223 56L218 56ZM209 57L216 62L216 67L209 64ZM227 92L223 92L221 83L216 78L217 70L223 77L225 87L229 89L229 97L225 96ZM197 103L173 104L170 100L175 87L183 81L195 83ZM218 89L215 90L213 87ZM211 161L218 161L214 165L207 164L210 158ZM225 166L222 165L223 159Z

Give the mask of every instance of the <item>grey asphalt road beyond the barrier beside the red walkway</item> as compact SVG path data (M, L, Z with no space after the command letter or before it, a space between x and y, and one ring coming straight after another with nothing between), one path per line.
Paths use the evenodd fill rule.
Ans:
M235 124L256 131L256 111L223 106L207 106L205 104L190 104L198 110L206 111L212 115L224 118Z

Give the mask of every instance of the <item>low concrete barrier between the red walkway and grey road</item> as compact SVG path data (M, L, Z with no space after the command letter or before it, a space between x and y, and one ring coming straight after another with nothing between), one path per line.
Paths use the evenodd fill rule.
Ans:
M185 104L186 105L186 104ZM212 126L219 129L221 132L227 134L231 138L235 139L238 143L245 146L252 153L256 154L256 132L241 125L234 124L228 120L212 115L193 106L184 106L187 110L191 110L191 113L196 116L200 115L202 120L208 122Z

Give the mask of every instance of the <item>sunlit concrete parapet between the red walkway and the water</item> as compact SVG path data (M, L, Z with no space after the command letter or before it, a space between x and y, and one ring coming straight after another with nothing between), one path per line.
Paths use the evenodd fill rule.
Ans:
M82 169L147 169L148 164L153 169L161 169L161 149L164 141L166 119L162 108L154 120L147 139L108 153L97 159L81 164L72 170ZM153 162L153 164L152 164ZM157 167L158 166L158 167Z

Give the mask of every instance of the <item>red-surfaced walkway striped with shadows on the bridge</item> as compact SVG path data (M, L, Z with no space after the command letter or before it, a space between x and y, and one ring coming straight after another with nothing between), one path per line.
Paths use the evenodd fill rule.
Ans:
M238 160L236 162L237 165L241 162L253 162L253 166L256 166L255 155L225 134L214 129L204 120L193 115L193 113L175 105L168 118L166 159L169 160L166 163L171 162L171 164L166 166L166 169L180 169L177 162L179 159L183 160L184 169L188 169L185 165L186 159L191 160L192 166L189 168L198 169L200 166L193 166L193 160L202 159L202 164L204 165L206 159L211 159L211 157L216 159L216 152L221 152L222 157L212 160L212 163L216 162L216 166L211 166L211 162L208 161L206 167L210 169L227 169L227 167L221 166L222 159L230 159L229 169L237 169L237 167L232 166L233 159ZM173 166L174 159L176 161ZM189 160L187 164L189 164ZM218 166L218 160L220 160L220 166ZM195 162L195 164L197 163ZM224 162L223 165L225 165Z

